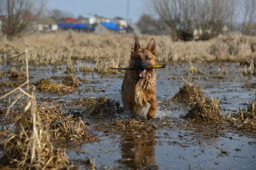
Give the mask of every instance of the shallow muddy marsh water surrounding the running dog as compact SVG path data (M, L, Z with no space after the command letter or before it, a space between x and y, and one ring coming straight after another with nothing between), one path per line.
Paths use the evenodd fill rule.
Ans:
M75 65L77 66L78 64ZM239 106L243 108L252 102L253 88L244 87L244 83L254 83L255 76L241 74L243 66L214 62L194 66L205 71L205 74L193 74L190 78L209 92L207 96L221 97L223 114L235 112ZM12 66L0 66L1 70L10 67ZM61 67L63 69L60 69ZM61 77L66 75L65 67L63 65L56 69L54 66L31 66L31 81L41 78L61 81ZM78 164L80 169L90 169L90 166L84 163L86 157L92 162L95 161L97 169L255 169L255 133L244 133L232 127L220 130L218 125L188 125L189 123L179 116L186 114L189 106L174 102L168 106L161 105L161 101L170 99L179 91L184 83L182 77L189 77L188 71L189 65L185 63L168 64L166 69L157 70L159 109L156 118L151 120L156 129L125 133L106 132L93 125L99 122L84 119L100 140L95 143L71 145L68 148L70 160ZM79 97L104 95L120 101L121 75L82 72L75 75L90 82L83 83L79 91L65 96L38 92L38 102L47 101L45 99L61 101L68 112L68 103ZM5 77L3 81L8 81L8 78ZM83 108L77 108L74 112L83 112Z

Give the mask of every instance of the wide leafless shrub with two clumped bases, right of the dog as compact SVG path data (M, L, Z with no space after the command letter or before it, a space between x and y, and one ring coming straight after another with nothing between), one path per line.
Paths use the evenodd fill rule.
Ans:
M198 29L201 39L209 39L232 23L236 0L148 0L155 16L171 29L172 39L190 40Z

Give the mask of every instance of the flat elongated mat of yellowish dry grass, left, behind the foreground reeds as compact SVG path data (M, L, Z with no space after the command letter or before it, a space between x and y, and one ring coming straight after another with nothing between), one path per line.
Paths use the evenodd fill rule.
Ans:
M69 87L61 82L53 82L45 79L36 81L35 85L39 85L38 89L42 92L56 92L59 95L69 94L76 91L74 87Z

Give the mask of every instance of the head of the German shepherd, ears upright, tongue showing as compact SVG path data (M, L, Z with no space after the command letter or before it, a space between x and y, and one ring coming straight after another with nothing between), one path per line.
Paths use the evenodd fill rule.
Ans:
M148 73L147 67L156 64L156 41L150 40L147 48L140 48L138 38L134 38L131 49L130 67L136 67L136 72L140 78L144 78Z

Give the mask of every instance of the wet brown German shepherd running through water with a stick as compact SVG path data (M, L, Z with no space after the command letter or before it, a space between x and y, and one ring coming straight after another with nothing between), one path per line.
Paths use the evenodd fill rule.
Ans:
M134 38L131 49L129 67L137 69L125 73L121 90L124 110L143 114L147 110L150 120L156 114L156 71L147 69L149 65L156 64L156 41L150 40L147 48L141 48L138 38Z

